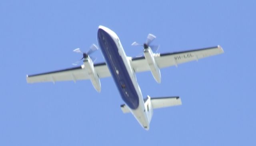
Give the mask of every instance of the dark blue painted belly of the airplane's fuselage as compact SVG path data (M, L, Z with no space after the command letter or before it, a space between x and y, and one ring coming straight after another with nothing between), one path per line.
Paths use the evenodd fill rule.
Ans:
M116 43L103 29L98 29L98 43L122 99L131 109L137 109L139 97L122 57L118 53Z

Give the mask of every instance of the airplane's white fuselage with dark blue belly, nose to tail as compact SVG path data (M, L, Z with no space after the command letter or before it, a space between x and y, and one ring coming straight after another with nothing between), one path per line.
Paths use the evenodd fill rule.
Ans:
M131 58L126 56L122 44L120 43L116 33L104 26L99 26L98 44L100 45L102 54L106 60L108 68L114 78L114 81L119 89L122 98L126 102L126 105L128 105L131 113L138 120L140 125L148 130L150 119L148 118L145 109L144 99L138 82L136 80L136 74L130 65ZM123 65L120 67L119 64ZM127 73L128 76L122 76L122 74ZM129 85L130 87L128 87ZM132 97L138 97L138 99L132 99Z

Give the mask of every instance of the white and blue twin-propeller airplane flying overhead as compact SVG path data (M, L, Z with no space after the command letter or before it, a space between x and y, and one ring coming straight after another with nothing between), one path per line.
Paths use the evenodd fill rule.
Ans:
M174 53L153 53L155 46L150 43L156 38L148 34L146 43L143 45L144 56L126 56L124 48L116 33L107 27L98 27L98 45L106 62L94 64L89 54L97 50L96 45L91 47L87 53L82 53L80 49L74 52L82 53L83 64L78 67L56 70L34 75L27 75L28 83L36 82L57 82L90 80L95 90L101 91L100 78L112 76L116 87L125 104L121 105L123 113L132 113L138 123L149 130L150 121L153 116L153 109L181 105L179 96L172 97L150 97L144 99L136 79L137 72L150 71L157 83L161 82L160 68L177 66L178 64L198 60L212 55L224 53L220 45L203 49L195 49ZM140 46L137 42L134 46Z

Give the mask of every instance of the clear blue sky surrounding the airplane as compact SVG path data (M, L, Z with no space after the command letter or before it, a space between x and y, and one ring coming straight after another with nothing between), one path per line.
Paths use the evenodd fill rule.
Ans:
M255 146L256 1L2 0L0 146ZM137 74L144 97L179 95L182 105L154 110L150 130L131 114L112 78L101 93L90 81L27 84L26 74L72 67L97 43L98 25L131 43L157 36L160 53L221 45L224 54ZM103 62L100 51L93 54Z

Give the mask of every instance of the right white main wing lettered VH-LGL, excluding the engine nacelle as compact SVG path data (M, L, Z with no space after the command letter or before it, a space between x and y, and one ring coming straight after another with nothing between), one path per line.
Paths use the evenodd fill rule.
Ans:
M218 55L223 52L222 47L216 46L174 53L155 54L154 58L159 68L165 68L168 66L177 66L181 63L198 60L208 56ZM150 70L144 56L132 58L131 65L135 72L144 72Z

